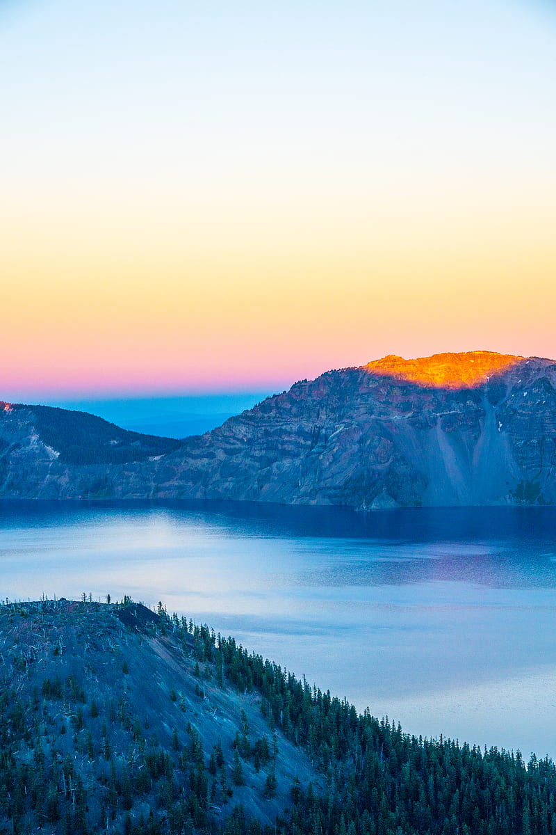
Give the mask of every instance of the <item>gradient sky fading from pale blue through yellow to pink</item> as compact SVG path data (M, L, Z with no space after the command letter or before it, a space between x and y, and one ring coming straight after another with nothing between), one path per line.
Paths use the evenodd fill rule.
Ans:
M0 398L556 356L541 0L0 0Z

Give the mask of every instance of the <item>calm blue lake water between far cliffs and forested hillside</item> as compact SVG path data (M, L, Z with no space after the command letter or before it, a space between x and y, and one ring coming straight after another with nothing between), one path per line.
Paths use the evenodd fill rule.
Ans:
M423 736L556 757L556 509L0 503L0 596L148 605Z

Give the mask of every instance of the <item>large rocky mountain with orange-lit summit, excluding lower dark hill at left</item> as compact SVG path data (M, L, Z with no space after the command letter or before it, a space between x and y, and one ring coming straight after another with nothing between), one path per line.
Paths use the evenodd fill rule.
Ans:
M555 453L552 361L387 357L298 382L188 440L164 458L158 495L358 508L554 504Z

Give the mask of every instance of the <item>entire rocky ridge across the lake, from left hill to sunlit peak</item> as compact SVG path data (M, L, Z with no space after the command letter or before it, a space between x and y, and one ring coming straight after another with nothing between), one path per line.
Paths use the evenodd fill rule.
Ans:
M224 498L357 509L556 504L556 364L384 357L178 442L3 404L0 496Z

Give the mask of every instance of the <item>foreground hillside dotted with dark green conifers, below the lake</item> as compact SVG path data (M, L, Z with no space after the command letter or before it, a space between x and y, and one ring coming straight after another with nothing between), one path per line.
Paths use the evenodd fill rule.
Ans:
M7 602L0 660L0 832L556 832L552 761L410 736L162 605Z

